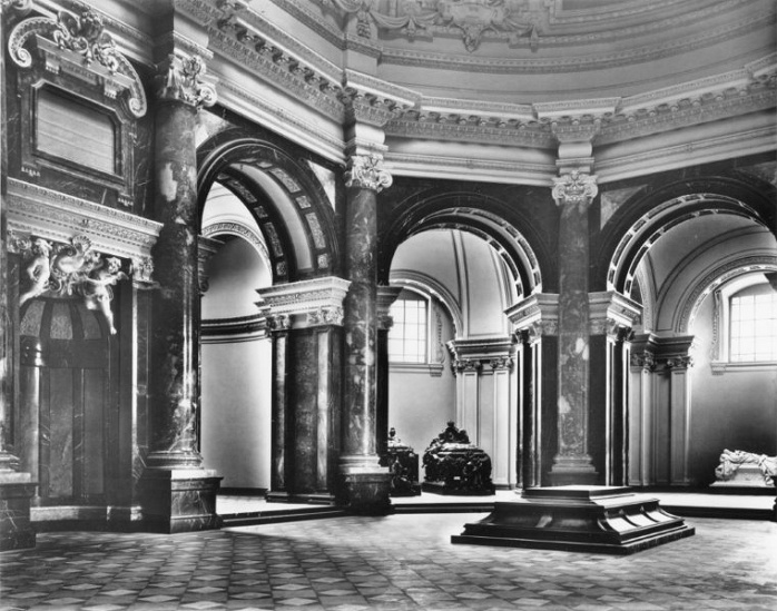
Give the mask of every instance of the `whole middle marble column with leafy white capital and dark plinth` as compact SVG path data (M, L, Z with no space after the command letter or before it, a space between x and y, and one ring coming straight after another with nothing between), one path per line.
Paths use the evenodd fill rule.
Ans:
M390 510L391 475L377 456L377 193L391 176L377 155L354 155L345 174L345 354L341 501L357 513Z

